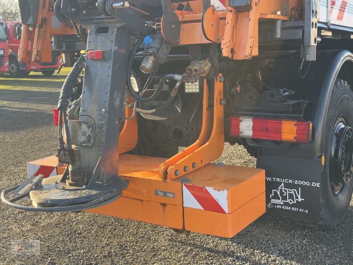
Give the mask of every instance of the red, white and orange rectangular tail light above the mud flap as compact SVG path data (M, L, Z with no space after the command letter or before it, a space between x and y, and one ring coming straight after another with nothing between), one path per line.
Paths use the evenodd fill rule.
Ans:
M229 136L239 138L309 143L311 133L308 121L232 116L229 122Z

